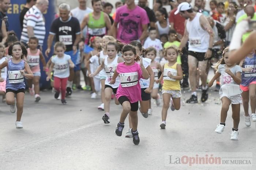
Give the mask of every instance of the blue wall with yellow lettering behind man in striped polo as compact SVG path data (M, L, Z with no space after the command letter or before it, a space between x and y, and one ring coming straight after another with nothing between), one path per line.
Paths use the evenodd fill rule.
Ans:
M44 13L45 17L45 27L46 27L46 35L43 45L43 54L45 54L45 50L47 48L47 38L49 35L50 25L52 24L52 21L54 20L55 16L55 0L49 0L49 8ZM20 22L19 22L19 15L22 11L23 7L26 4L26 0L11 0L11 7L7 11L7 16L9 20L9 31L14 30L18 38L20 39L21 35L21 28L20 28ZM53 51L53 50L52 50ZM50 55L51 56L51 55ZM50 57L49 57L50 58ZM49 58L45 57L46 62L49 60ZM42 64L41 64L41 80L40 80L40 87L41 88L47 88L50 87L50 83L46 82L46 74L44 71L42 71Z

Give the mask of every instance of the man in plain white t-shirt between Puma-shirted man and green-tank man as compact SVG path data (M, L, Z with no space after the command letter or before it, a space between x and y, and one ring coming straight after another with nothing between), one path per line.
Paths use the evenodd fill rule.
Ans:
M79 23L81 24L84 19L84 16L93 12L93 9L86 7L87 0L78 0L78 1L79 1L79 7L72 9L71 15L76 17L78 19ZM82 34L83 34L83 37L86 37L87 26L83 29Z

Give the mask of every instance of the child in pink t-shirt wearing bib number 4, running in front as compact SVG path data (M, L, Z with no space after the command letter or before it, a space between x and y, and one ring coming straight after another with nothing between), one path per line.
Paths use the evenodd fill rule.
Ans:
M122 49L124 63L119 63L117 69L114 72L110 84L116 82L116 78L119 74L121 83L117 89L116 98L123 106L123 111L120 116L120 122L116 126L115 134L121 136L124 129L124 120L130 113L132 119L132 142L135 145L139 145L139 133L137 131L138 126L138 106L139 100L141 100L141 90L139 80L141 78L148 79L149 75L146 68L142 64L142 58L140 63L135 62L136 49L135 47L127 44ZM138 57L139 59L139 57Z

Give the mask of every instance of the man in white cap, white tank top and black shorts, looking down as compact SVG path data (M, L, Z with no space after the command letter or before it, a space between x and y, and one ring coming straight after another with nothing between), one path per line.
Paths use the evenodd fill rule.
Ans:
M177 15L178 13L187 19L185 21L185 32L180 44L180 49L182 49L187 41L189 41L188 67L192 95L191 98L187 100L187 103L198 102L196 93L197 67L203 84L201 101L205 102L208 99L206 67L208 59L210 59L212 55L214 33L206 17L202 15L202 13L193 12L192 6L189 3L183 2L179 4L174 14Z

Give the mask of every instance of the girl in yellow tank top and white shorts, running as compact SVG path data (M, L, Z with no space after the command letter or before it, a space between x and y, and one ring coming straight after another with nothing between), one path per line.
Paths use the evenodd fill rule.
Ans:
M158 83L163 79L163 108L162 123L160 124L161 129L165 129L167 111L170 106L170 102L172 111L180 109L180 80L183 79L183 75L181 65L176 62L179 53L180 51L174 46L166 48L165 57L167 58L168 63L163 66L163 73L161 77L156 80Z

